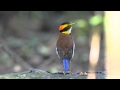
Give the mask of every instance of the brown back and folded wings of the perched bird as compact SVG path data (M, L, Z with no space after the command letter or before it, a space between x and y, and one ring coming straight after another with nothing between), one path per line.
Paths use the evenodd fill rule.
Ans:
M70 60L73 56L73 44L74 41L70 34L59 34L59 38L57 41L57 51L59 54L60 60L63 58L67 58Z

